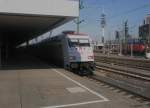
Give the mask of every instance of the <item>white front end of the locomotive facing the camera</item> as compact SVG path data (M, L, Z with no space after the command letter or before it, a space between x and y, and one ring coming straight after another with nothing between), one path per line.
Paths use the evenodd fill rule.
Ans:
M79 74L93 73L94 53L89 36L69 36L69 64Z

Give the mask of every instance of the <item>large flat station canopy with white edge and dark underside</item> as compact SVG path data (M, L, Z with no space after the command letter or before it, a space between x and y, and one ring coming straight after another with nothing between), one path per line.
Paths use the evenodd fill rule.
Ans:
M78 0L1 0L0 39L18 45L78 17Z

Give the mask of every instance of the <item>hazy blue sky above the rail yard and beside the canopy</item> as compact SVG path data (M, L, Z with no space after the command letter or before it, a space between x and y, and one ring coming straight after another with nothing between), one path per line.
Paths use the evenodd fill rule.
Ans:
M114 31L123 28L123 21L129 21L130 33L138 35L138 26L144 17L150 14L150 0L82 0L84 9L80 11L80 31L91 35L93 39L101 38L100 16L102 7L107 15L107 30L105 39L114 38ZM76 30L76 24L71 21L58 29L53 34L63 30Z

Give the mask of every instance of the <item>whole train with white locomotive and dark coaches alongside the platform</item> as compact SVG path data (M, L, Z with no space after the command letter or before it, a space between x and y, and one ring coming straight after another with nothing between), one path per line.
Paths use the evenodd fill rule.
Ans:
M86 34L63 32L48 40L28 47L30 52L77 74L93 74L94 53Z

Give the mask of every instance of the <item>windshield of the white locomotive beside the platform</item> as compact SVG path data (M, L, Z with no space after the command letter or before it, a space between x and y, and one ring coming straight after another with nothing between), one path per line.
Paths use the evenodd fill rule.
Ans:
M90 42L88 39L69 39L68 42L70 47L90 46Z

